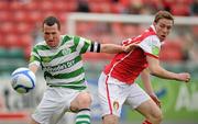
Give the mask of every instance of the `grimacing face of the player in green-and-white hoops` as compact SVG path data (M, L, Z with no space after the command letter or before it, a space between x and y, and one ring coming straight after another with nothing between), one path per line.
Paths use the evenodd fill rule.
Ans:
M58 30L58 26L56 23L52 26L44 24L43 33L44 33L45 42L50 47L58 46L61 31Z

